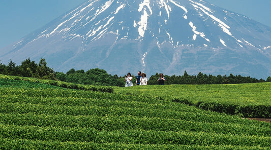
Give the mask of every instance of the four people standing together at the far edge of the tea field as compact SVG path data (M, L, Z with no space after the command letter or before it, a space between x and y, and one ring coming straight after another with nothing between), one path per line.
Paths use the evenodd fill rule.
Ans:
M127 73L127 76L125 77L125 87L132 87L133 83L132 83L132 75L130 72ZM141 85L147 85L147 77L146 77L146 73L141 73L141 71L138 71L138 75L136 76L136 86L141 86ZM163 73L160 73L160 77L157 80L159 85L164 85L165 84L165 77Z

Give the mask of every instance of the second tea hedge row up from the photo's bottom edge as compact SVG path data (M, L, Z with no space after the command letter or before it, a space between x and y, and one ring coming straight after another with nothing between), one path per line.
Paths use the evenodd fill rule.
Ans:
M174 145L235 145L271 146L270 136L221 134L204 131L155 131L155 130L111 130L70 127L36 127L1 125L0 137L29 140L48 140L61 142L95 142L126 144L174 144Z

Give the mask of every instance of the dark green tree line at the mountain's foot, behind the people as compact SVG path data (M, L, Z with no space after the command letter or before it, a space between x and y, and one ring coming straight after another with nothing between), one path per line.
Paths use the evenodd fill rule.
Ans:
M87 71L70 69L66 73L55 72L52 68L47 66L44 58L41 58L39 64L35 61L31 61L29 58L21 62L21 65L16 65L10 60L8 65L2 64L0 60L0 73L9 76L20 76L20 77L32 77L37 79L49 79L58 80L76 84L85 85L101 85L101 86L125 86L125 77L118 77L117 74L111 76L105 70L99 68L92 68ZM133 77L133 84L135 85L136 78ZM213 76L212 74L203 74L199 72L196 76L191 76L184 72L183 76L164 76L166 78L165 84L240 84L240 83L260 83L260 82L271 82L271 77L265 80L255 79L251 77L242 77L240 75L234 76ZM152 75L148 78L148 85L157 85L159 73Z

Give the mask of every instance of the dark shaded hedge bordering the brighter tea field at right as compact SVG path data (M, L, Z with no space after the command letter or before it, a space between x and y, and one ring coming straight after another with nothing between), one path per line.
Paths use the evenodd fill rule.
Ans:
M218 113L238 115L243 118L271 118L271 105L234 105L219 102L198 102L194 104L187 98L174 98L171 101L195 105L204 110L212 110Z

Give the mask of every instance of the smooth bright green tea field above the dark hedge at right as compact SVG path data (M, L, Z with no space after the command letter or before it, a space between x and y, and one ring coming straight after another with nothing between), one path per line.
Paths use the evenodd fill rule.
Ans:
M115 87L116 93L163 97L163 99L186 98L193 103L199 101L271 105L271 82L224 85L154 85Z

